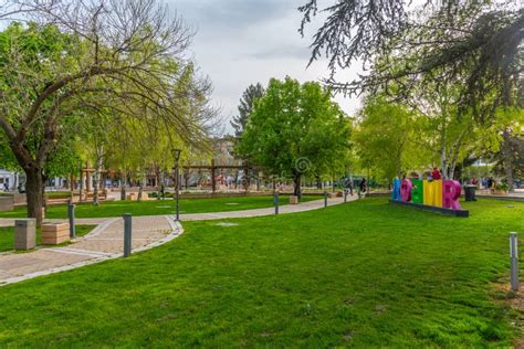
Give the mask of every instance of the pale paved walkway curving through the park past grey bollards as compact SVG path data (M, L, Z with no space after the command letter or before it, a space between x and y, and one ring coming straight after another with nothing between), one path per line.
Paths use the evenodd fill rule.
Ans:
M357 197L348 197L347 201ZM343 203L343 198L328 199L327 204ZM316 210L324 200L280 207L280 213ZM274 208L244 211L181 214L181 221L249 218L274 214ZM60 221L60 220L50 220ZM0 286L28 278L67 271L102 261L117 258L124 251L124 220L122 218L77 219L77 224L97 224L87 235L64 247L43 247L30 253L0 254ZM13 219L0 219L0 226L13 225ZM184 233L174 215L145 215L133 218L133 252L159 246Z

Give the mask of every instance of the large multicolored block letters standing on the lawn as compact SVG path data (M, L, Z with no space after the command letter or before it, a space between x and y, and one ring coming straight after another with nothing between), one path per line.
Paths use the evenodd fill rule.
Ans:
M396 179L391 200L460 210L460 193L461 187L455 180Z

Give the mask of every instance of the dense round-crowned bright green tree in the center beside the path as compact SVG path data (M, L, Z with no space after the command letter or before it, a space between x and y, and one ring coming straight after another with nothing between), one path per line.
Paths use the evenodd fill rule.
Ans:
M255 104L238 150L269 174L291 177L301 195L305 173L332 174L349 150L350 124L317 83L272 78Z

